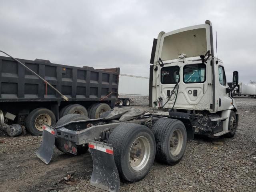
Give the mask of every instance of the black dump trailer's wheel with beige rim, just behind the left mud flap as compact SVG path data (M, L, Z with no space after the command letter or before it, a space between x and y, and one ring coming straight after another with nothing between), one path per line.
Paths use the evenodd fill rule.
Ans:
M37 108L32 110L26 118L26 128L27 130L36 136L43 134L44 124L54 126L56 123L56 118L54 113L46 108Z

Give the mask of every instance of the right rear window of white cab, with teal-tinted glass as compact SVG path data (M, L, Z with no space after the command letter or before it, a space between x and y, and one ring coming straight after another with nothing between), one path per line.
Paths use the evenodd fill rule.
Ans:
M184 83L203 83L206 80L206 65L192 64L183 68Z

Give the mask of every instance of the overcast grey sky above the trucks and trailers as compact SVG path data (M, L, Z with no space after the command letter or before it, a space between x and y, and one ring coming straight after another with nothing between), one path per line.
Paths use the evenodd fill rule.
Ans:
M234 70L240 82L256 80L255 0L0 0L0 18L0 50L16 58L120 67L139 76L149 76L152 42L160 31L208 19L228 81Z

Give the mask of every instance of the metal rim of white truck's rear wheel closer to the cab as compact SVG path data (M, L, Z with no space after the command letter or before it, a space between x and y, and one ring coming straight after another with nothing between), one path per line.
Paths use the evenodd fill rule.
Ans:
M173 156L177 156L182 149L182 145L183 145L183 134L181 130L176 129L174 130L174 132L172 133L172 136L170 137L170 153Z

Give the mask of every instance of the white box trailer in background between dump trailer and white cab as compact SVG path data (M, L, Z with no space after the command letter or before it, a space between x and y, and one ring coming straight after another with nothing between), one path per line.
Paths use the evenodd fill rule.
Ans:
M149 98L149 78L120 74L116 106L129 106L136 98Z

